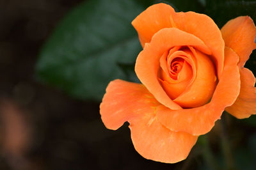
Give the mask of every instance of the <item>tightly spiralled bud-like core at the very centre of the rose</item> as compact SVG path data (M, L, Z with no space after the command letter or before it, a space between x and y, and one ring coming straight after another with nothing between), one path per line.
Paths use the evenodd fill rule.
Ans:
M172 100L195 79L196 66L191 56L181 47L174 47L160 59L159 81Z

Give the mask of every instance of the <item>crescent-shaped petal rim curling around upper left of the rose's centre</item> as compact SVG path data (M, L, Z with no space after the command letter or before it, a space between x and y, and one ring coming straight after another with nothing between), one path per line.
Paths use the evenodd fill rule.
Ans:
M154 95L158 102L170 109L182 108L166 95L166 92L158 81L159 59L164 52L172 47L182 45L193 46L208 54L211 52L208 47L205 46L204 42L196 36L176 28L164 28L152 37L150 43L145 45L135 65L135 72L140 81L147 87L148 91Z

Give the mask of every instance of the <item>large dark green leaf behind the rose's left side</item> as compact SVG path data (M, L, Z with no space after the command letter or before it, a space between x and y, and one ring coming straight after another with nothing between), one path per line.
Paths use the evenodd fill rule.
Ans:
M148 6L138 0L91 0L60 22L45 43L36 66L40 81L72 97L100 101L113 79L136 81L133 65L141 51L131 21Z

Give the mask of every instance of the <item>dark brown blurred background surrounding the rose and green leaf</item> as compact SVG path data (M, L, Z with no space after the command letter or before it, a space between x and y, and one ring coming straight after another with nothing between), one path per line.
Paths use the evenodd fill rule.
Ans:
M186 160L162 164L134 150L128 123L116 131L106 129L99 102L76 100L36 81L42 45L80 2L0 0L0 169L255 167L255 116L236 120L224 114L211 133L200 137ZM249 67L255 68L255 58Z

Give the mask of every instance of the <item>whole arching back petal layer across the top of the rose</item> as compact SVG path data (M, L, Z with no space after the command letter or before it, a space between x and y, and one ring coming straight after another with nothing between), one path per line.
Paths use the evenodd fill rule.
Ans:
M166 27L191 33L200 38L212 51L212 59L217 66L218 77L223 70L224 41L220 29L207 15L195 12L175 13L168 4L154 4L132 21L137 30L141 45L150 42L157 31Z

